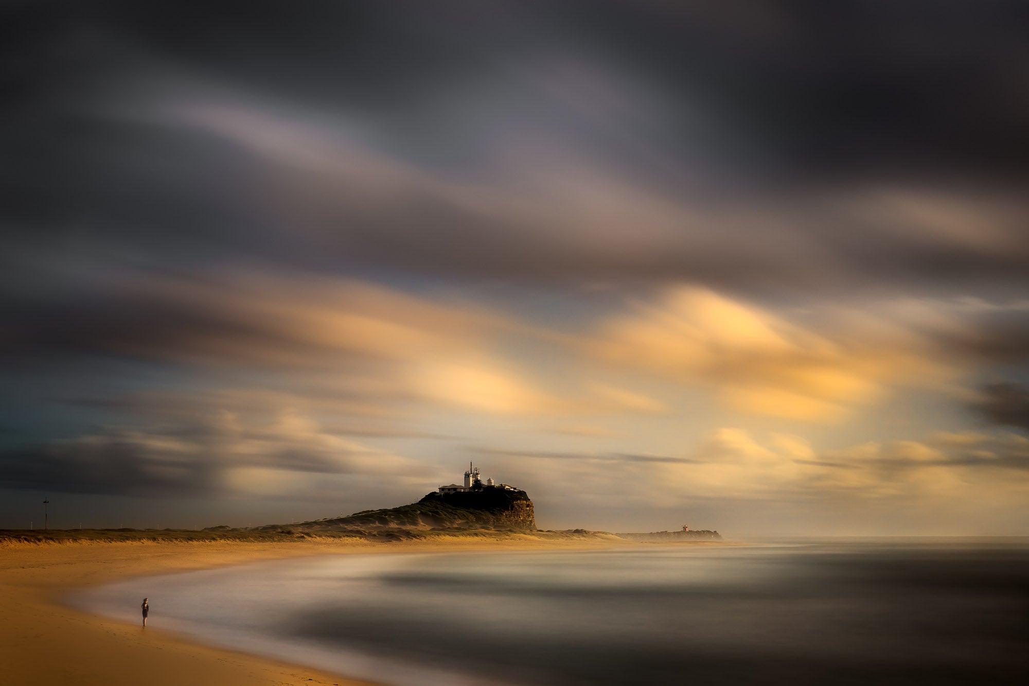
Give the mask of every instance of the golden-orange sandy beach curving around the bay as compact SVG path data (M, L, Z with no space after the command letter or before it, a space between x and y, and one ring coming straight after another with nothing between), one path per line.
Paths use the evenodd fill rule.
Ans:
M71 543L0 547L0 683L10 686L234 686L338 684L300 665L210 648L161 628L123 624L61 605L74 588L128 576L326 553L601 548L604 541L447 543ZM645 544L643 544L645 545ZM142 601L142 598L140 598Z

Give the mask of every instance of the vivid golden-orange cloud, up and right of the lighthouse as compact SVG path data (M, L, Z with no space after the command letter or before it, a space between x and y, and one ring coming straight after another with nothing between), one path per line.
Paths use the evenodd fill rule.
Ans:
M680 286L634 302L582 344L609 365L712 388L732 408L787 419L839 422L897 383L950 374L910 339L903 345L852 327L831 338L706 288Z

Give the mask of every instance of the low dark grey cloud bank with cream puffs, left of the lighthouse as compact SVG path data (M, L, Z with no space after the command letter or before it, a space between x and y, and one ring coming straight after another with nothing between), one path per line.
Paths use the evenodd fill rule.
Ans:
M75 439L0 452L0 487L117 494L253 494L253 474L368 475L411 460L341 438L285 410L193 410L175 423L105 427ZM263 477L267 478L267 477Z

